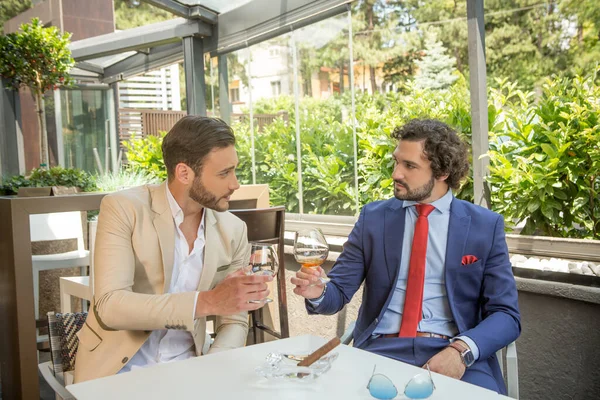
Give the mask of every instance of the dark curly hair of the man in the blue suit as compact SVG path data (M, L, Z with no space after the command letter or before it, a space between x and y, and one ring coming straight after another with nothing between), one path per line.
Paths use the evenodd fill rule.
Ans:
M446 183L452 189L460 187L460 181L469 172L469 153L458 133L443 122L434 119L413 119L397 127L392 137L411 142L425 141L423 151L431 162L434 178L448 175Z

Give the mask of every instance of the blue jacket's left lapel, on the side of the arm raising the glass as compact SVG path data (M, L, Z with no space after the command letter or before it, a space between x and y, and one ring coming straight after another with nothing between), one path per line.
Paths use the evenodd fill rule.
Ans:
M402 201L394 201L385 210L383 228L385 260L390 281L395 282L400 269L402 241L404 239L405 210Z

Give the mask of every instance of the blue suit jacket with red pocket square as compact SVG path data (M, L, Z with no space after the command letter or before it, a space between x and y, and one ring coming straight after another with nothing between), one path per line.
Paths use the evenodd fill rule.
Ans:
M306 302L309 314L335 314L365 281L354 329L355 347L362 347L373 334L394 293L402 257L404 211L402 201L395 198L363 207L329 274L331 283L323 301L316 307ZM465 255L474 255L478 261L461 265ZM452 200L445 280L460 335L475 342L479 362L489 364L489 371L503 388L495 352L519 336L521 323L500 215L466 201Z

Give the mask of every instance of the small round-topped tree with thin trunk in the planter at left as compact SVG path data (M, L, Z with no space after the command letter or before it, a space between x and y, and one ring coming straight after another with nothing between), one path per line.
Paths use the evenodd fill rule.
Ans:
M44 93L71 83L75 61L69 50L70 33L44 28L39 19L21 25L20 31L0 36L0 76L7 87L27 87L35 98L40 133L40 166L48 166L48 132Z

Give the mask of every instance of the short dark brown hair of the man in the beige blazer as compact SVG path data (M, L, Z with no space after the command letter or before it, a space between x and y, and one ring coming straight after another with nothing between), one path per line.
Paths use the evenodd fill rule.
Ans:
M162 143L169 180L175 175L177 164L184 163L199 174L204 158L213 149L234 145L233 130L225 121L199 115L183 117L173 125Z

